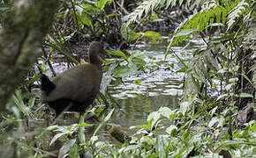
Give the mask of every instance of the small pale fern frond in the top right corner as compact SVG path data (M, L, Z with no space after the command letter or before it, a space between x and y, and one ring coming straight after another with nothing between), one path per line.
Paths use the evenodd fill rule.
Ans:
M245 0L241 1L235 8L233 8L228 16L228 30L230 30L230 27L236 22L235 19L240 16L242 11L245 11L245 6L248 6L249 4L245 3Z

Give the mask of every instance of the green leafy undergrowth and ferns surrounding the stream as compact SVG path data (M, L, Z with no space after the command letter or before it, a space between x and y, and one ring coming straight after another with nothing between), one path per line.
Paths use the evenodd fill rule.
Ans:
M125 4L112 0L61 1L56 22L42 44L42 57L2 116L0 152L4 157L256 157L255 1L137 3L134 11L124 15ZM1 4L0 18L11 1ZM165 56L177 57L182 65L177 73L185 74L179 108L161 107L151 112L147 124L131 126L131 135L115 131L118 139L124 140L122 145L100 138L100 130L109 126L106 124L117 109L95 106L84 116L94 113L100 121L93 124L76 119L70 126L49 126L49 122L41 121L46 117L42 114L44 105L30 91L39 78L38 71L46 72L49 67L56 75L51 62L56 51L72 67L79 64L72 54L73 44L99 38L109 44L116 42L120 49L124 42L162 44L159 32L140 26L150 23L153 16L158 18L161 11L192 4L200 6L200 11L184 18L169 35L165 52ZM184 60L172 47L189 47L192 39L202 39L204 46ZM108 86L113 78L122 82L124 77L139 75L147 68L145 54L139 50L108 50L107 54L101 89L105 97L98 98L100 103L109 102ZM92 127L93 134L87 135L86 129Z

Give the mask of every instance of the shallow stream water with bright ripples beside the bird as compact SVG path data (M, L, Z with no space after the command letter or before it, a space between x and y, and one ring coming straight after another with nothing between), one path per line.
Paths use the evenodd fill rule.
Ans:
M161 106L175 109L183 92L184 78L184 73L177 73L183 68L177 56L184 62L188 61L192 51L202 47L202 41L194 40L192 44L185 49L172 47L175 54L169 54L165 60L166 47L137 45L135 49L145 55L146 72L123 77L124 83L109 86L109 94L121 109L113 113L108 124L121 126L127 132L130 126L147 124L148 114L157 111ZM132 50L129 52L132 53ZM54 65L55 69L63 69L63 67L64 64L60 63ZM135 83L138 80L139 85ZM100 133L103 140L112 140L104 128Z

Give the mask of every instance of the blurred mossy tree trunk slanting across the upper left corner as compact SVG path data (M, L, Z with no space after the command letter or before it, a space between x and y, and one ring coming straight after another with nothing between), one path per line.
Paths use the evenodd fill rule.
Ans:
M0 29L0 111L32 68L51 26L56 0L16 0Z

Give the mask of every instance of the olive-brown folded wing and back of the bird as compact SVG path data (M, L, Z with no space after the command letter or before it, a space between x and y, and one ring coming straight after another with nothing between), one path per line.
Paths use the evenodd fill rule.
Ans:
M98 92L101 79L101 71L93 64L86 63L70 68L53 80L56 89L44 100L49 102L69 98L83 102L87 97L91 97L92 93Z

